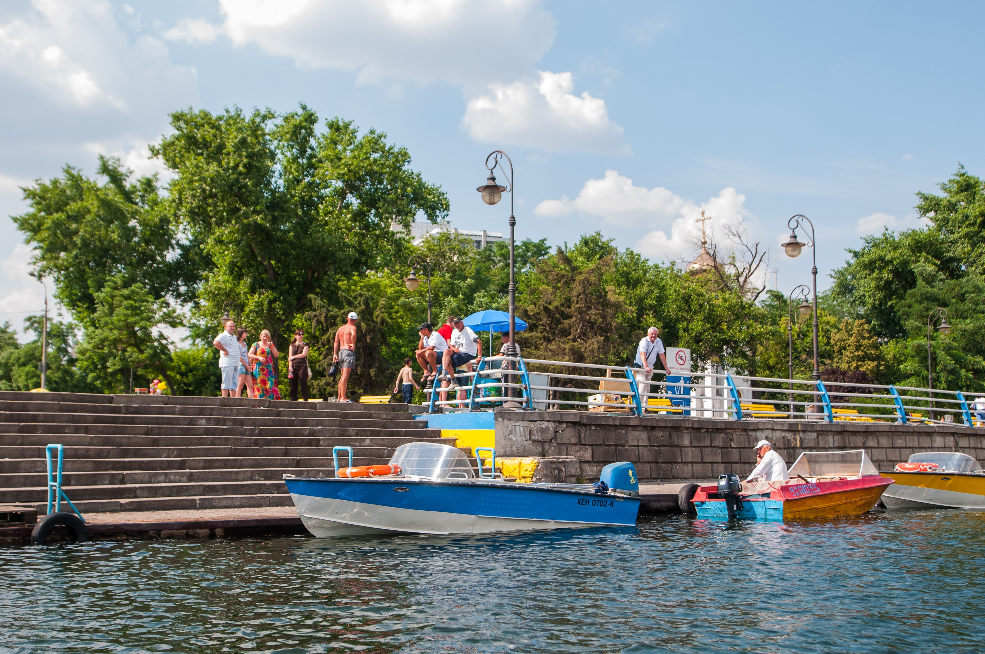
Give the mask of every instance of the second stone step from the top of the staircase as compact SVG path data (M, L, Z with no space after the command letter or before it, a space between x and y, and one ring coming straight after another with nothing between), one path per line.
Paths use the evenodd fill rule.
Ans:
M290 403L289 403L290 405ZM365 405L376 406L376 405ZM387 406L387 405L379 405ZM298 418L305 420L399 420L414 416L402 411L312 410L292 408L221 407L199 405L78 404L66 402L0 402L0 410L11 413L83 414L92 416L186 416L216 418Z

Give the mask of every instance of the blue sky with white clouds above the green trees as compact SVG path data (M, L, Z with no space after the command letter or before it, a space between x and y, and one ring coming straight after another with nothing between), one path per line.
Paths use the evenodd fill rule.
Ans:
M93 175L99 154L166 180L148 144L189 106L303 102L383 131L459 229L508 233L508 203L475 190L497 149L518 239L599 230L687 262L703 210L715 238L740 224L768 249L761 283L775 268L784 293L811 280L812 250L780 245L802 214L823 290L866 234L919 227L917 191L958 164L985 174L983 18L974 2L8 1L0 322L44 301L8 218L19 187Z

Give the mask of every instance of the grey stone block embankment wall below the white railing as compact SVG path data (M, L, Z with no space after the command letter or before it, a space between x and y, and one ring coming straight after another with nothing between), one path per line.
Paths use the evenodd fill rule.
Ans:
M755 466L753 445L763 438L788 465L801 452L850 449L865 449L885 471L923 451L958 451L985 462L983 436L985 429L960 425L495 413L497 456L573 456L587 480L598 479L603 466L614 461L631 461L643 480L710 480L723 473L745 477Z

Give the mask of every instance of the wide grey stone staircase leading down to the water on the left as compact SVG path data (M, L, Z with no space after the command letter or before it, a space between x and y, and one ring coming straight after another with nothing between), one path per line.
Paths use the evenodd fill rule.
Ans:
M83 513L289 506L282 475L333 476L335 445L357 466L407 442L454 445L412 419L404 404L0 391L0 504L44 513L44 447L61 443Z

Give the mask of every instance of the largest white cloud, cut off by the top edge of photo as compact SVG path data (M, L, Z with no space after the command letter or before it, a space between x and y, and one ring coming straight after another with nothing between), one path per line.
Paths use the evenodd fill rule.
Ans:
M554 42L555 19L530 0L220 0L223 31L300 68L363 84L447 82L484 88L528 75Z

